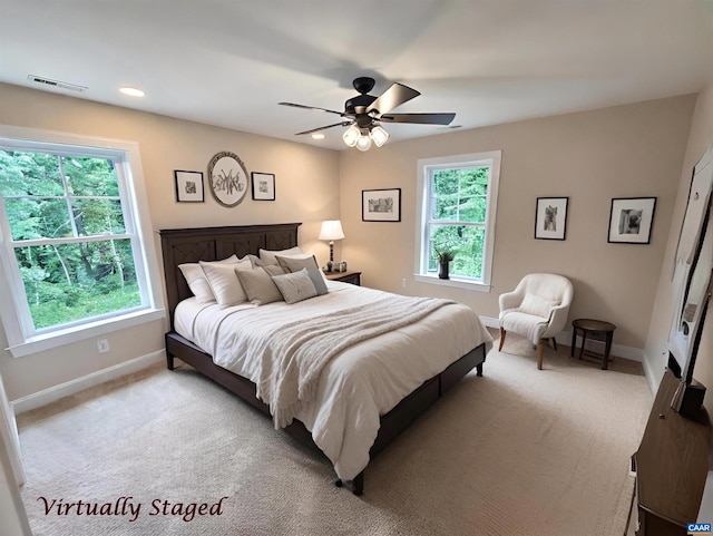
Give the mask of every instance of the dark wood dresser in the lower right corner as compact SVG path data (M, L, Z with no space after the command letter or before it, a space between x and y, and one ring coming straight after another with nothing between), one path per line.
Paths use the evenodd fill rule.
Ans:
M636 510L632 520L636 536L685 536L687 524L696 522L701 507L709 471L711 422L705 409L694 421L671 408L680 381L666 370L642 442L632 456L636 474Z

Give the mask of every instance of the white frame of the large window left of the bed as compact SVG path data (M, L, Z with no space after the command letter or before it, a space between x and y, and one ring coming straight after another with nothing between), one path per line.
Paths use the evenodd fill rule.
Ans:
M138 145L134 142L0 125L0 148L61 154L72 146L81 154L110 156L117 160L119 195L127 216L126 233L134 235L131 246L135 250L143 305L120 314L35 331L14 257L12 235L7 218L1 217L0 277L8 284L0 285L0 320L8 339L8 350L16 358L166 318Z

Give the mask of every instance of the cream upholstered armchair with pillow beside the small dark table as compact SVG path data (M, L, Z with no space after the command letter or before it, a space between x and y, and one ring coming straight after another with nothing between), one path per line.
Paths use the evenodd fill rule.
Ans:
M505 335L514 331L537 345L537 368L543 369L545 343L567 323L569 304L574 296L572 282L561 275L529 274L520 280L512 292L500 294L500 347Z

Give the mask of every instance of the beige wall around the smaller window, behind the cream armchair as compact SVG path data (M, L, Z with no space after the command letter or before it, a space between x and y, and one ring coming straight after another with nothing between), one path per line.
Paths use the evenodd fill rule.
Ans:
M344 259L363 281L441 295L498 315L498 295L530 272L572 279L570 319L617 325L615 343L643 348L678 188L694 96L499 125L342 153ZM424 127L428 128L428 127ZM502 150L492 291L413 281L417 160ZM361 221L363 188L402 188L401 223ZM568 196L566 241L534 238L537 197ZM609 244L613 197L657 197L649 245ZM401 280L407 279L406 290Z

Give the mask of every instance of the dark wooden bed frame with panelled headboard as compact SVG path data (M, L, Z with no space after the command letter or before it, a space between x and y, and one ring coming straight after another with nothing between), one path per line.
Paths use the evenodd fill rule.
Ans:
M214 364L209 354L174 331L176 305L193 295L178 265L198 261L217 261L234 253L238 257L247 254L257 255L260 248L286 250L294 247L297 245L297 227L300 225L299 223L289 223L159 231L170 318L170 331L166 333L166 364L169 370L174 369L174 358L178 358L254 407L270 413L270 408L256 398L255 384L252 381ZM480 344L450 364L443 372L423 382L395 408L381 417L379 435L369 451L370 458L383 450L471 369L476 368L478 376L482 376L485 359L485 344ZM316 447L312 441L311 433L299 420L295 419L285 430L299 440ZM335 484L339 487L350 488L355 495L361 495L364 487L364 474L360 472L353 481L336 480Z

